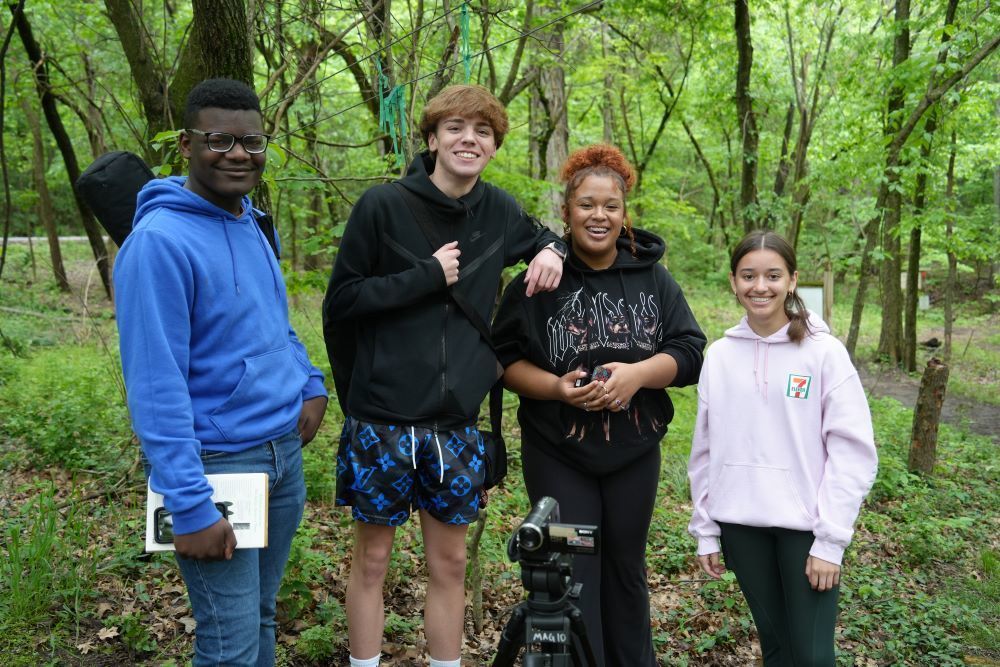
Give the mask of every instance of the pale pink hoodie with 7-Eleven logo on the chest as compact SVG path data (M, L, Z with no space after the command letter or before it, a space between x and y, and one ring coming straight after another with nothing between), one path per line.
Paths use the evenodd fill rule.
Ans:
M705 354L688 478L688 531L718 552L719 525L811 531L810 555L840 564L872 482L871 413L847 350L811 315L761 338L744 317Z

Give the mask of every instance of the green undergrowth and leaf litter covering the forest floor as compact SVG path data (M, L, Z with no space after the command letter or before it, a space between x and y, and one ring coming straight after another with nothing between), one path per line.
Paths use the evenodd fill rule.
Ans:
M70 261L85 256L66 250ZM0 506L7 509L0 519L0 654L12 666L183 664L191 641L183 584L169 556L141 552L144 483L117 381L110 308L93 288L85 303L43 278L23 278L27 266L26 253L13 248L0 289ZM315 282L296 283L293 318L314 360L325 365ZM739 316L718 287L685 284L710 339ZM840 333L850 294L838 299L832 324ZM975 308L960 311L957 326L975 334L967 350L956 345L949 391L984 400L1000 395L1000 334L990 329L995 318ZM874 350L878 317L870 305L859 355ZM921 317L921 331L939 325L935 311ZM667 665L751 664L756 635L738 588L731 579L704 581L693 567L685 464L695 393L671 396L676 417L662 443L648 558L657 652ZM467 642L470 664L491 658L490 638L521 598L519 571L505 548L528 509L515 406L508 397L510 476L491 493L481 546L486 639ZM881 465L845 561L838 663L1000 664L995 436L942 426L937 469L923 479L905 465L911 412L876 399L872 413ZM305 450L306 517L279 596L282 665L346 661L351 522L332 503L342 420L332 402ZM397 533L386 587L387 638L399 656L407 646L420 650L424 577L419 526L411 522Z

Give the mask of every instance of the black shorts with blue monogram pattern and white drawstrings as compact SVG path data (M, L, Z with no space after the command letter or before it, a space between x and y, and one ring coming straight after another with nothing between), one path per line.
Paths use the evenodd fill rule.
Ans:
M472 523L484 453L473 425L435 432L347 417L337 451L337 504L352 506L356 521L382 526L402 525L414 509L442 523Z

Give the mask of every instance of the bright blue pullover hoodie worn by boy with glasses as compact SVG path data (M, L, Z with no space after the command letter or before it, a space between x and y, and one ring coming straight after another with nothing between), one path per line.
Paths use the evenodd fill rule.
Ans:
M184 181L142 189L114 269L132 428L178 535L219 520L202 448L238 452L283 435L303 400L326 395L249 198L237 218Z

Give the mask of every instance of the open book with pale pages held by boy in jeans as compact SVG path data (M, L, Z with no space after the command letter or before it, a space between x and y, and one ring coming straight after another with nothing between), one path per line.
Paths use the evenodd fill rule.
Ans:
M266 472L205 475L212 501L236 533L237 549L267 546ZM174 524L163 496L146 485L146 551L173 551Z

